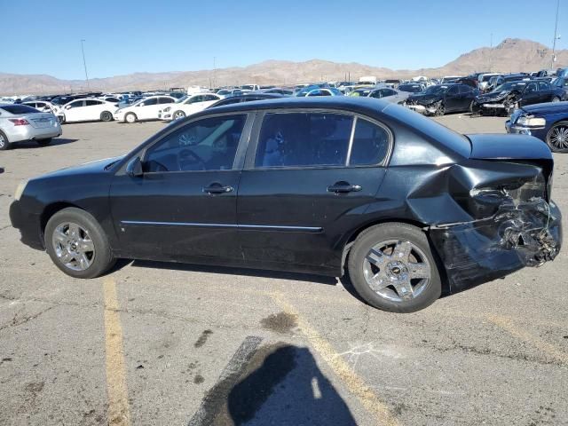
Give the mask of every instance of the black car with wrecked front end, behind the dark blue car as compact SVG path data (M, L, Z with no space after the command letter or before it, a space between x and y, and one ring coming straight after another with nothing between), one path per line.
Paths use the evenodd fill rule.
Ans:
M560 102L566 92L546 80L522 80L503 83L494 91L475 99L473 112L484 115L510 115L521 106Z

